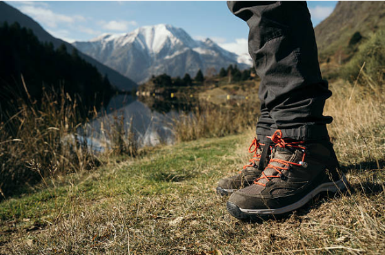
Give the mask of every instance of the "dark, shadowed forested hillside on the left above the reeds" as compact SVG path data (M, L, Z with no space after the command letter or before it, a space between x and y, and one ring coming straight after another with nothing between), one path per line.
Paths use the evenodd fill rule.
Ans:
M94 105L99 108L114 91L108 77L81 59L76 49L72 54L65 45L55 50L52 43L39 42L32 30L21 28L19 23L3 23L0 38L1 112L9 110L9 102L19 96L29 94L31 101L39 103L44 88L63 88L72 99L78 98L85 112Z

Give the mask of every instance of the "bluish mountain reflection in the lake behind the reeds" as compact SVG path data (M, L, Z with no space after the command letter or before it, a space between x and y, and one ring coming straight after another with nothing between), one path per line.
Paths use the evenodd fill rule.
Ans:
M92 150L103 151L111 145L111 132L119 121L123 121L124 132L132 131L139 147L153 146L159 143L172 144L175 133L172 130L172 119L178 116L177 109L159 101L154 101L151 108L128 94L112 97L106 108L99 112L99 117L90 122L83 134L86 135ZM156 111L156 105L161 110ZM159 109L159 108L158 108Z

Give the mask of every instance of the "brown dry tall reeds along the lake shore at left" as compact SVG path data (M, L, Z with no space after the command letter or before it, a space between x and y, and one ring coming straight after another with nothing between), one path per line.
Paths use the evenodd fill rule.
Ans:
M89 119L81 117L77 99L63 90L43 90L41 104L20 98L14 112L2 116L5 121L0 123L0 191L4 196L31 190L42 178L101 165L100 153L90 150L86 139L94 132L87 128ZM135 156L137 144L131 130L125 130L124 119L116 117L108 125L110 141L105 153Z

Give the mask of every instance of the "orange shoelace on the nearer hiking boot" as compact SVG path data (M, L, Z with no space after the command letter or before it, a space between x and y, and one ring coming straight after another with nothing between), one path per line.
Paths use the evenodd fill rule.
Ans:
M284 139L284 138L282 138L282 131L281 130L275 131L273 136L270 136L270 137L268 136L268 138L270 138L271 141L273 141L273 143L275 143L275 147L294 147L297 149L306 150L306 147L301 146L301 144L304 143L304 141L292 141L291 139ZM305 154L306 153L304 153L304 155L302 156L302 161L304 161L304 159L305 159ZM280 164L284 165L285 167L279 167L276 165L271 165L271 163L273 163L273 162L280 163ZM283 175L282 170L288 170L288 167L290 167L290 165L301 166L299 163L284 161L282 159L270 159L265 170L268 168L273 168L275 171L278 172L278 175L266 175L264 172L262 172L261 177L255 179L254 183L258 184L258 185L266 186L265 183L259 183L258 181L261 179L266 179L267 181L270 181L270 178L281 178L281 176Z

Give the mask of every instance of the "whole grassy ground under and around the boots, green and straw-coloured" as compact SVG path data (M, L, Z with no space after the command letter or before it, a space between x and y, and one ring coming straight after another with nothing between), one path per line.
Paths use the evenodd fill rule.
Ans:
M249 130L48 177L0 203L0 254L384 254L384 93L343 81L331 90L325 114L345 194L279 218L232 218L215 187L248 161Z

